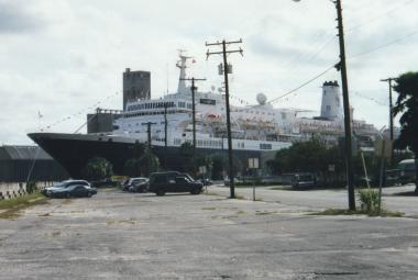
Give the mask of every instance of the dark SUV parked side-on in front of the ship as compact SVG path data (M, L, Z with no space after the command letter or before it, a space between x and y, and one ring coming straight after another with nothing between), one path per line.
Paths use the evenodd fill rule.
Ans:
M155 172L150 177L150 192L164 195L166 192L190 192L199 194L202 183L195 181L189 175L177 171Z

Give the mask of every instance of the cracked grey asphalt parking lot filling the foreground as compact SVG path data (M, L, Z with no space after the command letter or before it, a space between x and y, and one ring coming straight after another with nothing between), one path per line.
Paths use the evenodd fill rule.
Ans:
M417 198L391 191L407 217L308 215L344 191L51 200L0 220L0 279L416 279Z

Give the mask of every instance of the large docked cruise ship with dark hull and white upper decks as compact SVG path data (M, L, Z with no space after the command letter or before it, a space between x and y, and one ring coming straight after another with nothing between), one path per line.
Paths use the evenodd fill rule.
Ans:
M160 99L131 100L113 122L113 131L94 134L30 133L45 152L55 158L73 177L79 177L87 161L103 157L113 165L116 173L134 153L136 143L151 144L162 166L175 169L179 147L193 143L193 93L186 85L189 57L180 54L180 72L175 93ZM265 163L279 149L294 142L311 138L312 133L327 143L343 135L342 107L337 82L323 83L321 116L299 117L300 110L276 109L263 93L256 94L254 105L231 107L233 155L246 166L248 158ZM228 152L226 96L213 90L195 92L196 149L206 155ZM360 122L360 128L364 125ZM358 125L358 126L359 126ZM355 126L354 126L355 127ZM150 131L148 131L150 130ZM367 126L371 135L373 126ZM364 134L364 133L363 133Z

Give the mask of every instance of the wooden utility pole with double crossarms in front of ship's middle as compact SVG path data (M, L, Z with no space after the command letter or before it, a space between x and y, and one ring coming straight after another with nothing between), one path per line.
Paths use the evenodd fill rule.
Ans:
M229 186L230 186L230 198L235 198L235 186L233 182L233 159L232 159L232 135L231 135L231 115L230 115L230 105L229 105L229 82L228 82L228 74L229 74L229 65L227 61L227 54L240 53L243 55L243 51L240 47L234 51L227 51L227 45L231 44L242 44L242 40L240 41L222 41L217 43L206 43L206 46L222 46L222 52L208 52L206 53L207 59L210 55L222 55L223 56L223 78L226 86L226 107L227 107L227 137L228 137L228 159L229 159Z

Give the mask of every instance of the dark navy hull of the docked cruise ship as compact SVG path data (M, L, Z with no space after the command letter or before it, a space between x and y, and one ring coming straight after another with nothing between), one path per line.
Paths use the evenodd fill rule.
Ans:
M58 161L73 178L82 177L86 164L94 157L106 158L112 164L114 173L123 175L124 164L135 154L138 143L131 137L95 134L31 133L28 136ZM178 169L179 147L152 146L152 149L163 167ZM197 148L197 153L228 157L228 149ZM272 155L257 150L233 150L233 156L244 166L248 158L263 159Z

